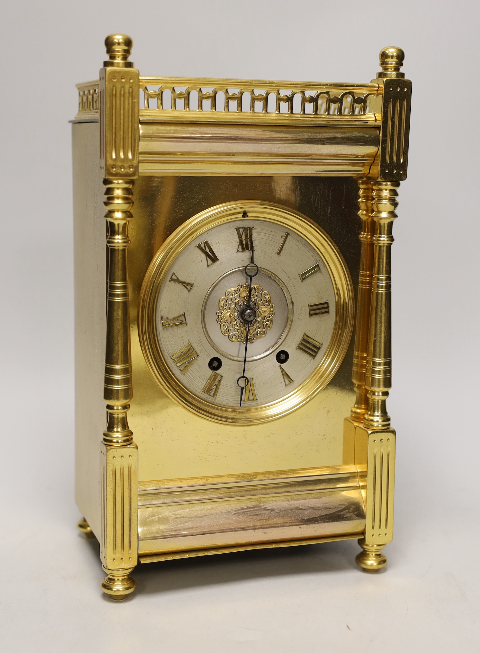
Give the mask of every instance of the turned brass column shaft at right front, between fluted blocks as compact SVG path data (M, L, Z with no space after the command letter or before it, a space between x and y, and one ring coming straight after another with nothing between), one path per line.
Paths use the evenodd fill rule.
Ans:
M363 418L365 427L372 430L390 427L386 402L392 386L391 245L399 186L399 182L372 182L374 272L365 375L368 410Z

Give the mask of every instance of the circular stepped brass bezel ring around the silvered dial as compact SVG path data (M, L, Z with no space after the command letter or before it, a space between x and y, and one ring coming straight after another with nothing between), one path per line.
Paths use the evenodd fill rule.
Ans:
M318 252L333 281L335 324L322 360L301 385L268 404L240 408L215 404L214 401L203 399L190 392L175 377L158 342L157 302L166 274L179 253L204 232L239 219L244 211L247 211L248 217L252 219L277 223L288 231L295 231ZM310 401L331 381L352 337L353 302L352 279L346 263L333 240L314 221L290 208L271 202L260 200L226 202L212 206L185 221L158 249L145 274L140 291L138 336L143 356L153 376L162 390L181 406L220 424L262 424L292 413Z

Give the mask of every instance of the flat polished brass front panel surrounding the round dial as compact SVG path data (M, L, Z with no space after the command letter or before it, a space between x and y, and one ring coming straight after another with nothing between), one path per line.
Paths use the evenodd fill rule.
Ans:
M139 481L343 462L343 419L355 401L353 338L337 374L314 400L273 422L241 428L215 424L177 406L158 386L140 350L138 296L158 248L192 215L222 202L250 199L282 204L316 221L339 247L353 287L358 286L361 222L355 179L140 175L128 250L134 387L129 423L140 449Z

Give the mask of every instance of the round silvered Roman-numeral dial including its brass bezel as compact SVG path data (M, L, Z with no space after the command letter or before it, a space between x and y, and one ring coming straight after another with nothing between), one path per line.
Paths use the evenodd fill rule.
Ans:
M140 343L157 381L230 424L310 400L335 374L352 325L352 282L333 241L307 217L253 200L173 232L140 296Z

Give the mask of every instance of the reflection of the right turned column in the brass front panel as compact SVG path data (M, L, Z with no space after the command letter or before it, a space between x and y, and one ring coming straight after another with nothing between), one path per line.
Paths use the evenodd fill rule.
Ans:
M362 221L362 231L360 234L360 270L352 369L352 381L356 396L350 416L355 422L363 422L363 417L368 409L365 372L367 370L368 330L370 328L370 303L372 297L374 220L372 219L372 182L361 179L358 185L358 204L360 207L358 214Z

